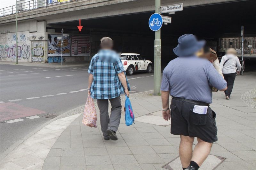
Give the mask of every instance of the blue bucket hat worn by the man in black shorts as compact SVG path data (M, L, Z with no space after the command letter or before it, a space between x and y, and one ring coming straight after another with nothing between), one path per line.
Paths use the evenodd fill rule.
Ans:
M178 46L173 52L178 56L189 56L196 53L205 45L205 40L198 41L193 34L184 34L178 39Z

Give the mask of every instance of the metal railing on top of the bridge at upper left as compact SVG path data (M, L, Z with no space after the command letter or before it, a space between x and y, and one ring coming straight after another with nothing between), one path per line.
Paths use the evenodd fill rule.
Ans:
M55 5L55 4L62 4L65 2L70 2L70 1L74 1L74 0L56 0L56 3L53 3L53 0L31 0L31 1L27 1L27 2L18 2L17 3L17 12L24 12L24 11L30 11L30 10L34 10L34 9L38 9L38 8L42 8L42 7L46 7L46 6L50 6L50 5ZM4 17L7 15L12 15L16 13L16 4L9 6L9 7L5 7L0 9L0 17Z

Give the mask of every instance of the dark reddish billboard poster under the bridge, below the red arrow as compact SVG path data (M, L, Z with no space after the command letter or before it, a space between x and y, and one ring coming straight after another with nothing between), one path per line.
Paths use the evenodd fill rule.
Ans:
M71 56L90 55L90 37L72 35Z

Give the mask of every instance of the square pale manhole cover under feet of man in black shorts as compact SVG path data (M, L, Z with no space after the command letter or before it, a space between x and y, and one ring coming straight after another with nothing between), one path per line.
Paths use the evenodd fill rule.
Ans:
M204 163L200 166L200 170L214 170L219 166L226 158L216 156L216 155L209 155ZM181 162L180 157L176 157L171 162L165 164L163 168L169 170L180 170Z

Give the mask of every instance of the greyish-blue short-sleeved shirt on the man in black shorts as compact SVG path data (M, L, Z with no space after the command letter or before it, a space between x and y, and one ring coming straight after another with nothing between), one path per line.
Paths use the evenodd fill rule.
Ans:
M178 57L164 68L161 90L173 97L212 103L211 86L221 90L227 82L206 59Z

